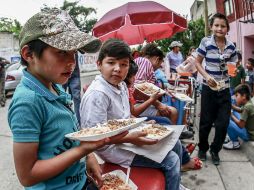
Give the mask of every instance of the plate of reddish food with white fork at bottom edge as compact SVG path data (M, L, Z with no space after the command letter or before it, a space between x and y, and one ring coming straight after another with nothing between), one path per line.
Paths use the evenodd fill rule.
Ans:
M103 176L103 186L100 190L137 190L138 187L131 179L125 184L126 174L122 170L114 170Z

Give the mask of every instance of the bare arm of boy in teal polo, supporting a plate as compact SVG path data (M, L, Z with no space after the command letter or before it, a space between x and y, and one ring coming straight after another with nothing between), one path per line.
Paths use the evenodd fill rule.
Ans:
M122 133L95 142L81 142L80 146L71 148L47 160L38 159L39 143L14 142L13 155L19 181L23 186L28 187L53 178L75 162L79 162L84 156L106 144L111 144L111 141L123 138L126 134Z

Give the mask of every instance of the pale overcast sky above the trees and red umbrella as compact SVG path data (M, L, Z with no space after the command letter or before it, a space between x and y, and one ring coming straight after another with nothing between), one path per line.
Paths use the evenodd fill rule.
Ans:
M79 4L95 8L97 14L92 16L100 19L109 10L127 2L128 0L80 0ZM190 8L194 0L157 0L156 2L181 15L190 15ZM17 19L23 25L26 20L40 11L43 4L60 7L63 0L0 0L0 17Z

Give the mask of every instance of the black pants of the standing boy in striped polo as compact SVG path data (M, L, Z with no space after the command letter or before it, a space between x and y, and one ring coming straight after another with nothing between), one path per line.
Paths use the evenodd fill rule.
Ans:
M215 136L210 150L217 153L221 150L227 134L231 111L230 91L229 88L213 91L203 85L201 95L199 150L206 152L209 149L208 136L214 125Z

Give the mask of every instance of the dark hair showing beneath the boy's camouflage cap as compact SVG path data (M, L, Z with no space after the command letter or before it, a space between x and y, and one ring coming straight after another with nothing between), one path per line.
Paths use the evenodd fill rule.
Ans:
M39 59L41 58L43 51L49 47L48 44L44 43L41 40L33 40L31 42L28 42L26 45L28 45L29 51L31 53L34 53ZM21 64L28 66L28 63L22 56L21 56Z

